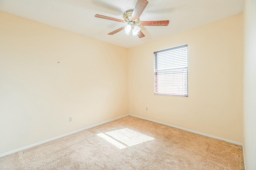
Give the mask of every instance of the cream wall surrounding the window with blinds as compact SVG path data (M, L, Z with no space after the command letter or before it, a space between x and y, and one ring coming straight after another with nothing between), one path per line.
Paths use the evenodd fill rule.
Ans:
M154 95L154 51L186 44L188 98ZM130 114L243 142L242 14L131 48L128 54Z

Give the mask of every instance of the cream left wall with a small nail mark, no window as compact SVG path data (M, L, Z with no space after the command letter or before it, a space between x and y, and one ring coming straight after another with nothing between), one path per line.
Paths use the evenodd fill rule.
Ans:
M127 51L0 11L0 154L128 114Z

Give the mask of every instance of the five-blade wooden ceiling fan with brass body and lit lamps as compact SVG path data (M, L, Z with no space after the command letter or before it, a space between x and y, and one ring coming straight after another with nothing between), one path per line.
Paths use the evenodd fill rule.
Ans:
M116 18L108 17L108 16L102 16L99 14L96 14L95 17L128 24L126 26L116 29L115 31L112 31L111 33L108 33L108 35L113 35L124 29L127 35L131 33L132 35L138 35L139 38L142 38L142 37L145 37L145 35L140 30L140 26L167 26L169 24L169 20L140 21L140 15L142 14L142 12L144 11L147 5L148 5L148 1L138 0L134 7L134 10L129 10L124 12L124 20L119 20Z

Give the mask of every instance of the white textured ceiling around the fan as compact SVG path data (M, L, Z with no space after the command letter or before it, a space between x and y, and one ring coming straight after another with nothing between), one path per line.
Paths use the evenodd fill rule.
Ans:
M54 27L130 48L243 12L244 0L148 0L141 21L170 20L168 26L141 26L145 37L108 33L126 25L95 18L123 20L137 0L0 0L0 10Z

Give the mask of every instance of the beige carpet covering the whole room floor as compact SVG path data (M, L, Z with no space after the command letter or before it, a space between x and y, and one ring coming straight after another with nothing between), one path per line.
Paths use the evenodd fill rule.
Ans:
M127 116L0 158L0 170L243 170L242 147Z

